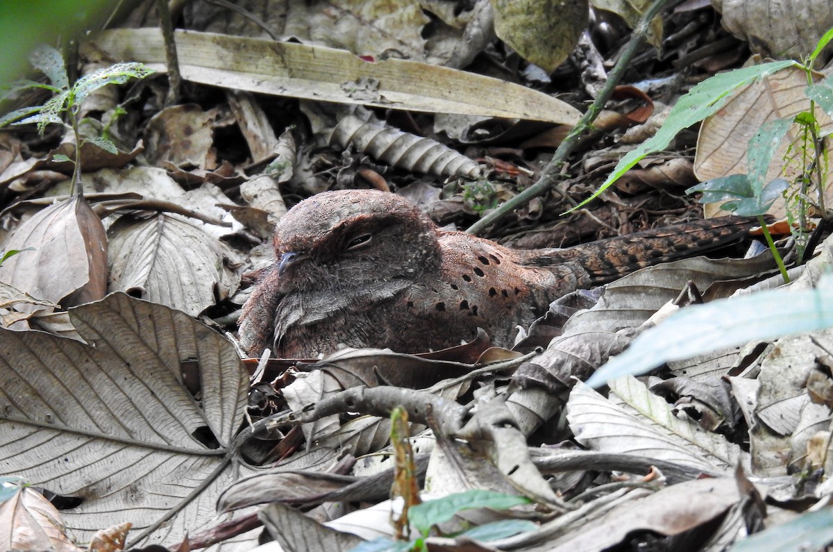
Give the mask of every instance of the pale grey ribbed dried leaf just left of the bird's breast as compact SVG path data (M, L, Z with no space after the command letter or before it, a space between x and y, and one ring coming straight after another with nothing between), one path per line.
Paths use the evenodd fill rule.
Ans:
M113 291L196 316L240 284L240 275L229 268L236 258L232 249L181 218L125 216L108 234Z

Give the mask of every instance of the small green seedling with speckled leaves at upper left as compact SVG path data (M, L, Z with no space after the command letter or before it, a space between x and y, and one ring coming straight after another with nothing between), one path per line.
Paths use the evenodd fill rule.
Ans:
M36 123L38 133L43 134L49 123L63 123L61 114L66 113L72 132L75 134L75 159L66 156L55 156L56 161L72 161L74 168L72 172L72 188L81 193L81 147L84 143L94 143L99 148L110 153L117 153L118 149L109 139L104 137L82 137L79 130L78 112L84 99L107 84L126 83L131 78L145 78L154 73L154 70L147 68L142 63L116 63L107 68L98 69L93 73L84 75L75 83L70 85L61 53L49 46L35 48L29 56L29 61L34 68L40 70L47 76L48 84L37 83L31 80L24 80L9 87L3 96L18 93L27 88L45 88L55 95L42 105L16 109L0 117L0 128L8 124L29 124Z

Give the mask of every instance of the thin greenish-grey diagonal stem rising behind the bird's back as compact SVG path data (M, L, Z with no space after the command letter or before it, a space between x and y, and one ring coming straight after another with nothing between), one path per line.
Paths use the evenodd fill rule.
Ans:
M667 0L654 0L654 2L651 3L651 6L647 9L646 13L642 14L642 18L636 25L636 28L634 28L633 34L631 35L631 42L628 43L627 48L622 53L618 63L616 63L616 66L607 76L607 82L605 83L605 86L601 88L599 95L596 97L596 101L591 104L584 116L581 117L579 122L576 123L576 126L572 128L570 133L567 134L567 137L564 138L564 141L561 142L561 145L558 146L558 149L556 149L556 153L552 156L550 162L546 163L546 167L541 173L541 178L538 178L536 183L532 184L529 188L526 188L523 192L518 193L514 198L511 198L506 201L506 203L503 203L501 207L496 208L492 213L489 213L486 217L483 217L476 223L472 224L466 232L473 234L482 233L483 230L489 228L492 224L505 217L506 214L510 213L515 208L518 208L524 203L528 203L532 198L537 198L538 196L549 191L549 189L555 185L556 182L558 182L558 177L561 175L561 165L566 163L566 158L568 158L573 149L576 148L576 144L578 143L578 139L581 137L581 133L584 133L586 130L591 128L591 123L593 123L593 121L596 120L596 116L601 113L601 109L605 106L605 103L607 103L607 99L610 98L611 93L613 93L613 88L615 88L616 84L621 81L621 78L624 76L626 70L630 68L631 59L633 59L636 52L642 47L642 44L645 43L648 26L651 23L651 20L655 18L658 13L660 13L666 2Z

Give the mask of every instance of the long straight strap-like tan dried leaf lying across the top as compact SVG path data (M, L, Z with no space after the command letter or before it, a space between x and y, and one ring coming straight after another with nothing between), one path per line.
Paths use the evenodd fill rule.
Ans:
M574 124L580 113L530 88L451 68L402 59L366 62L353 53L304 44L211 33L177 32L182 77L250 92L428 113L468 113ZM155 28L105 31L86 48L164 70ZM377 81L372 98L354 97L360 78Z

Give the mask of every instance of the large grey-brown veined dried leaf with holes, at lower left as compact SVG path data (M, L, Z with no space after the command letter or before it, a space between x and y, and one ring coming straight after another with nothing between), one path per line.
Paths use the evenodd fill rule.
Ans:
M242 421L247 370L221 334L162 305L112 294L69 314L94 347L0 330L0 468L83 497L64 512L78 539L129 511L137 529L172 513L154 539L176 542L212 519L234 479L221 468ZM185 360L198 366L188 379L196 386L183 379Z

